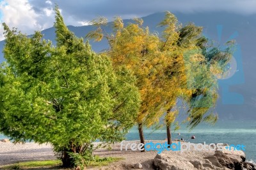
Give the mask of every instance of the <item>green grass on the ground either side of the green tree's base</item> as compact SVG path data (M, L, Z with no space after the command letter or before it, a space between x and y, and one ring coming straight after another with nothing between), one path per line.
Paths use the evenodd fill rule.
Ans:
M108 166L112 162L116 162L122 159L124 158L95 157L95 160L88 161L87 167ZM40 161L19 162L16 164L0 166L0 169L48 169L51 167L54 167L54 169L61 169L61 164L62 164L61 160L40 160Z

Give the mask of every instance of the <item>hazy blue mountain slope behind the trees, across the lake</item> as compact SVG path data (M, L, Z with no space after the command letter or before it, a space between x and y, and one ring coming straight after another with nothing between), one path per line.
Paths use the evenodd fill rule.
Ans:
M239 15L227 12L204 12L204 13L175 13L179 22L183 25L193 22L196 26L204 27L204 35L223 45L231 39L235 39L237 46L234 59L230 65L232 71L228 79L220 80L220 100L216 111L221 119L256 119L256 15ZM161 27L157 24L163 19L164 13L154 13L142 17L143 25L148 26L150 31L161 33ZM131 19L124 20L127 24ZM94 26L68 26L77 36L85 36ZM111 22L106 26L106 31L111 32ZM42 31L46 40L55 44L54 27ZM217 43L218 42L218 43ZM91 42L96 52L108 49L106 40ZM4 41L0 42L3 49ZM0 62L4 61L0 54Z

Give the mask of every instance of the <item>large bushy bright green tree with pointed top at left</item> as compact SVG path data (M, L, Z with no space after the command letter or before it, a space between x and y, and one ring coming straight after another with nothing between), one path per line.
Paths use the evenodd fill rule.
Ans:
M64 167L78 153L92 157L99 139L124 139L134 125L140 95L125 67L113 69L108 56L65 26L56 7L56 46L4 26L0 68L0 132L15 142L51 143Z

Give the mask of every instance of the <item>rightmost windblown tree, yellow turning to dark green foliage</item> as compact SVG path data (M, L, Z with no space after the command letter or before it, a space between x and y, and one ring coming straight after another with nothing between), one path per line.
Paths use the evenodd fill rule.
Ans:
M182 58L184 68L179 79L179 93L175 97L186 102L188 106L188 116L185 122L188 127L194 128L198 123L207 121L215 123L218 114L214 114L214 107L218 99L218 75L223 75L227 64L232 56L233 43L228 43L225 48L214 47L210 40L202 36L202 27L188 24L181 27L176 24L177 19L172 13L166 12L164 20L159 26L164 26L162 49L175 49L183 52ZM175 32L175 30L177 30ZM173 33L174 31L174 33ZM172 36L177 34L174 42ZM172 66L174 67L174 66ZM179 72L179 68L173 69ZM175 98L173 98L175 100ZM168 144L172 142L170 125L175 121L179 111L171 109L175 107L176 101L166 110L164 123L166 124ZM178 122L177 122L178 123Z

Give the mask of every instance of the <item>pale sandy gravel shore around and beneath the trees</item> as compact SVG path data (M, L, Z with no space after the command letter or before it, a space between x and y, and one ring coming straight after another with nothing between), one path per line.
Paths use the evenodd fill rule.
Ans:
M148 143L150 141L146 141ZM165 141L153 141L154 143L164 143ZM139 143L139 141L127 141L127 143ZM94 151L95 155L100 155L101 157L122 157L123 160L115 162L108 167L100 167L100 169L129 169L132 165L139 162L143 166L150 164L149 162L156 157L156 151L146 151L141 153L140 151L120 151L120 144L114 144L111 146L111 150L98 149ZM125 149L125 148L124 148ZM180 153L180 151L163 151L175 157L175 155L182 154L182 157L186 158L198 158L211 155L212 153L204 151L186 151ZM50 144L36 144L36 143L26 143L26 144L13 144L13 143L0 143L0 166L6 164L12 164L16 162L24 162L29 160L55 160L56 157L52 151L52 146ZM93 168L91 168L93 169ZM94 168L99 169L99 167ZM150 169L148 167L148 169Z

